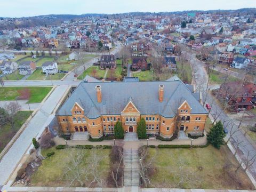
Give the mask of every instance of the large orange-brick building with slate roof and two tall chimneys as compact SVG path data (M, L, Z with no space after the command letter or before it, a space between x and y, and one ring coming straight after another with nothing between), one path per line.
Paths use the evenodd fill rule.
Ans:
M124 131L136 132L143 117L147 133L164 138L180 131L202 134L207 111L193 86L179 79L165 82L82 82L57 112L63 133L89 132L92 138ZM179 117L179 118L178 118ZM180 121L177 121L180 119Z

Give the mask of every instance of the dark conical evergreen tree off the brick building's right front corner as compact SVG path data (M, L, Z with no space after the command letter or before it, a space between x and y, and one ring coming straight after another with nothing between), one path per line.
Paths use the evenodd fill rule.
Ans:
M209 141L215 148L220 149L221 145L224 145L223 138L226 134L224 133L223 125L221 121L218 121L212 126L210 132L207 134L207 141Z

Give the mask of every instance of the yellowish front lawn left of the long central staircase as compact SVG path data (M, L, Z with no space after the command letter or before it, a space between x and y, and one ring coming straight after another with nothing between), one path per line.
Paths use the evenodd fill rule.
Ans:
M54 147L47 150L42 150L42 155L46 156L47 153L54 151L54 155L43 160L42 165L39 166L38 170L31 175L30 183L33 186L67 186L67 178L62 177L63 172L65 171L65 165L70 163L69 153L71 150L73 153L76 153L77 150L82 150L83 161L81 163L81 168L87 165L87 159L90 158L92 154L92 149L62 149L56 150ZM106 179L109 173L109 153L110 149L102 149L100 154L103 159L99 163L98 170L101 171L100 177ZM100 153L100 151L98 151ZM74 183L73 186L78 186L77 183Z

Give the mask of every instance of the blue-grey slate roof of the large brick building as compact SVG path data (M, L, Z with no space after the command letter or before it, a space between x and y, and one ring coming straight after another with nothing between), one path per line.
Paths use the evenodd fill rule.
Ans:
M158 100L158 87L164 85L163 102ZM102 101L97 102L95 86L101 85ZM162 114L174 117L178 107L187 101L191 114L207 114L204 107L181 81L80 83L58 110L57 115L71 115L77 102L89 118L120 115L127 101L132 100L141 114Z

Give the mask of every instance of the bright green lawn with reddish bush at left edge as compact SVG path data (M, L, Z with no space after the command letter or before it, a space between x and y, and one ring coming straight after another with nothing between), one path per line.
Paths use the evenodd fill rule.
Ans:
M0 87L0 101L13 101L19 96L19 90L28 89L28 103L41 102L51 91L52 87Z

